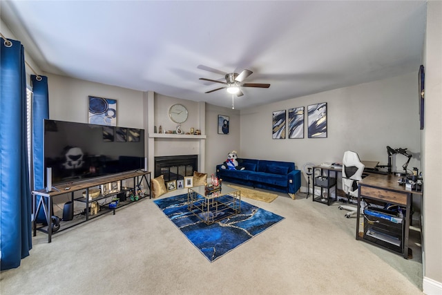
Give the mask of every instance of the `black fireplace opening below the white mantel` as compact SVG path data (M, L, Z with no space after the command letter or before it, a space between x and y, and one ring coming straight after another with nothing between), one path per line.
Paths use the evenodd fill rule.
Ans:
M164 181L181 180L193 176L198 169L198 155L166 155L155 157L155 176L164 175Z

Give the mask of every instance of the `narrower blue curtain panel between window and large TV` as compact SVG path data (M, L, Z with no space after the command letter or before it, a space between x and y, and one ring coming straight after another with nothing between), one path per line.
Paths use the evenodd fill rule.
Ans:
M32 162L34 189L44 189L44 119L49 119L48 77L31 75L32 81ZM37 197L37 204L40 196ZM35 205L35 204L34 204ZM52 214L52 208L50 211ZM37 222L46 223L44 209L37 212Z

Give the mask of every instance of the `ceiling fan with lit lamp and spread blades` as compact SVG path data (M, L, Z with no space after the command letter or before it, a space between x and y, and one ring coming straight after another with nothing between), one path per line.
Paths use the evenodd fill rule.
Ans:
M242 72L238 75L238 73L229 73L224 77L226 78L226 82L221 82L218 80L200 78L200 80L215 82L224 84L225 86L213 89L211 91L207 91L206 93L212 93L214 91L218 91L220 89L226 89L228 93L236 94L236 96L242 96L244 93L241 91L241 87L256 87L256 88L269 88L270 84L262 84L262 83L243 83L244 79L249 77L253 72L251 70L242 70Z

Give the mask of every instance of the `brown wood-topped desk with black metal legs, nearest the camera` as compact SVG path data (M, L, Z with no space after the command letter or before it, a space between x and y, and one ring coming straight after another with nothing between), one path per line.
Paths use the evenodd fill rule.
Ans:
M400 185L398 183L398 176L394 175L381 175L369 173L366 178L359 181L359 192L358 192L358 212L356 220L356 240L364 240L365 242L370 242L374 245L378 245L369 240L365 240L363 237L359 236L359 218L361 210L361 199L367 200L377 200L381 202L387 202L390 204L396 204L401 207L406 208L405 213L405 229L404 238L402 246L403 258L408 258L408 236L410 231L410 220L411 220L411 207L412 207L412 195L423 196L421 191L408 191L405 189L405 185ZM378 245L379 246L379 245ZM387 249L387 248L386 248Z

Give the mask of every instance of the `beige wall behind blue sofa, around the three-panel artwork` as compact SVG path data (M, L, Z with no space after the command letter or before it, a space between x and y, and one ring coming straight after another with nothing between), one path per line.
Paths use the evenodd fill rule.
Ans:
M302 170L307 162L342 162L347 150L361 160L387 164L386 146L392 146L407 148L414 155L408 168L420 169L417 97L416 72L242 110L240 156L291 161ZM320 102L327 102L327 138L308 138L307 106ZM272 112L299 106L305 107L305 137L273 140ZM407 159L397 155L392 160L396 171Z

